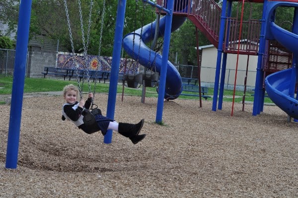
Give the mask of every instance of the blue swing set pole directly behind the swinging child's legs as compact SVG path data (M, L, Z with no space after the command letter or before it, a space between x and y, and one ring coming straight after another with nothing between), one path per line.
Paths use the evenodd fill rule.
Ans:
M119 66L120 66L121 46L122 46L123 27L124 27L124 18L125 18L125 7L126 7L126 0L118 0L112 68L111 68L111 79L110 79L109 96L108 96L108 104L107 104L107 117L111 119L114 119L114 114L115 114L118 73L119 73ZM112 130L108 130L108 132L106 133L103 139L104 143L109 144L112 142L112 133L113 133Z

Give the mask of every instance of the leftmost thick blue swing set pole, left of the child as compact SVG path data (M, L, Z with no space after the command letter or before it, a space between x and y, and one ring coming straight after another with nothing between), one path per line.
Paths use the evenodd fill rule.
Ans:
M21 0L12 81L6 168L17 166L32 0Z

